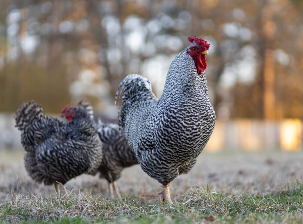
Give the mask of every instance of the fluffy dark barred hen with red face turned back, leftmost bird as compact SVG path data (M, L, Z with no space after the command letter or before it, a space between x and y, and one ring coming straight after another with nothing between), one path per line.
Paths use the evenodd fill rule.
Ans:
M94 173L102 160L102 143L95 121L81 107L67 105L60 115L68 122L45 116L42 107L31 100L15 115L26 153L25 169L38 183L55 185L82 174Z

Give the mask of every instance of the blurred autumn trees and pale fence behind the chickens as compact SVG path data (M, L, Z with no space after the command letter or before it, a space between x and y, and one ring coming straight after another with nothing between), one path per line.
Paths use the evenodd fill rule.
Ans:
M160 97L195 35L211 44L218 121L207 150L301 150L303 0L2 0L0 149L21 148L13 115L31 99L53 116L86 99L115 120L115 92L130 73Z

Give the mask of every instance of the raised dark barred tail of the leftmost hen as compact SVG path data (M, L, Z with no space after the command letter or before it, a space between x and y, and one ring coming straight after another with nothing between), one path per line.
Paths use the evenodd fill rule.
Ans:
M40 120L43 117L43 110L41 105L37 104L34 100L23 103L15 115L15 127L18 130L25 130L33 122Z

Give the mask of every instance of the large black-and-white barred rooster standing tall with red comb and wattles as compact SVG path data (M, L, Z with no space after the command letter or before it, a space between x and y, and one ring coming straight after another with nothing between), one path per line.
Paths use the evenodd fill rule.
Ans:
M119 125L145 173L163 186L162 199L172 204L171 181L188 173L215 127L215 110L208 97L205 76L210 44L188 37L191 45L181 51L168 70L161 97L151 82L130 74L116 93Z

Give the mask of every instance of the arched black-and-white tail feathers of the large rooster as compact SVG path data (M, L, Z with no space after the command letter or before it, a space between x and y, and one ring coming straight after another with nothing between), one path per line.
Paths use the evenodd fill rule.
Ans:
M119 125L124 128L125 116L134 102L155 98L155 94L151 90L151 82L147 78L138 74L126 76L120 83L115 97L115 105L121 105L118 106Z

